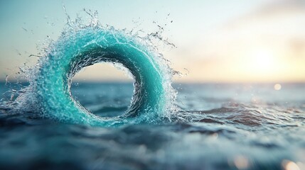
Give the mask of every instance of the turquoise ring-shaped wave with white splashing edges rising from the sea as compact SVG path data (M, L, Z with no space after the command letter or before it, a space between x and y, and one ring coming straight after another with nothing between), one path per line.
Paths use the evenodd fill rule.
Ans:
M101 118L75 101L70 93L73 76L83 67L99 62L122 64L134 77L129 109L119 117ZM30 86L23 95L27 107L63 123L115 126L154 123L169 118L176 92L166 60L144 42L119 30L82 28L63 33L32 70ZM31 104L29 104L31 103Z

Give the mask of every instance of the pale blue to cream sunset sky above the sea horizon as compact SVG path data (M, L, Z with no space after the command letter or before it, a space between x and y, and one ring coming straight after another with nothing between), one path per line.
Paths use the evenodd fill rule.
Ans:
M57 40L67 16L153 33L176 45L160 45L178 82L305 82L304 0L215 1L0 1L0 80L16 81L23 64L33 65L47 37ZM111 73L111 74L109 74ZM95 64L77 81L127 81L110 64Z

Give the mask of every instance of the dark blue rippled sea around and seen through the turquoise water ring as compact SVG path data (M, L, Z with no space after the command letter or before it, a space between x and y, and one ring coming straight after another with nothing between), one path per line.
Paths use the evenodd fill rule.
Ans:
M173 84L185 121L119 128L8 115L0 83L0 169L305 169L305 84ZM74 83L75 100L122 115L132 83Z

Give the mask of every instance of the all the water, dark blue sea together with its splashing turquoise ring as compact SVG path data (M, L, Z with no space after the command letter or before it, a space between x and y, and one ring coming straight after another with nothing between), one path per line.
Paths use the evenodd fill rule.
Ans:
M153 39L170 42L95 14L67 15L27 83L1 82L0 169L305 169L305 84L172 86ZM72 83L100 62L134 82Z

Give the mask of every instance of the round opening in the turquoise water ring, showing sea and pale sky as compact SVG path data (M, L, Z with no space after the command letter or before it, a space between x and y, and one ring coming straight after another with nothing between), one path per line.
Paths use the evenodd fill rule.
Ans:
M122 115L132 101L134 79L131 75L119 64L93 64L75 74L71 94L75 101L95 115Z

